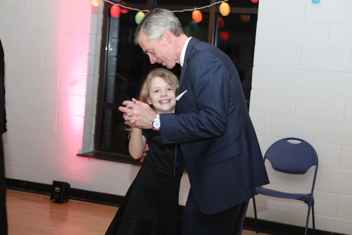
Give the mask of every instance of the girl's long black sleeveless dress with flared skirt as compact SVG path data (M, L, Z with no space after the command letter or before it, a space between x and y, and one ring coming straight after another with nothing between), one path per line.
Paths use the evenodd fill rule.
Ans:
M149 151L105 235L180 235L181 151L175 170L175 144L161 144L159 132L152 129L142 134Z

